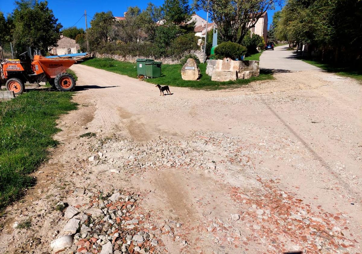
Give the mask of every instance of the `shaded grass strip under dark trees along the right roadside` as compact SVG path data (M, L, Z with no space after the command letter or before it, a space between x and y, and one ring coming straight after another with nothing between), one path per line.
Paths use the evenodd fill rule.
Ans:
M306 63L319 67L322 70L325 70L327 72L334 72L335 74L337 74L339 76L354 78L354 79L357 79L359 82L362 82L362 71L361 70L355 70L355 69L352 69L351 67L335 66L333 64L328 64L328 63L324 63L324 62L320 62L320 61L314 61L314 60L310 60L310 59L303 59L303 58L299 58L299 59Z

